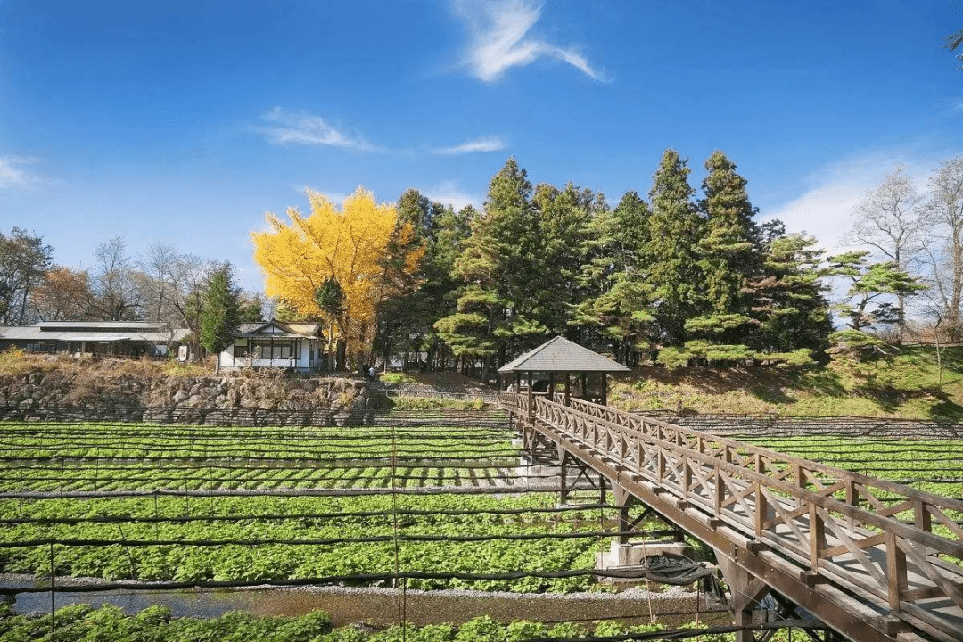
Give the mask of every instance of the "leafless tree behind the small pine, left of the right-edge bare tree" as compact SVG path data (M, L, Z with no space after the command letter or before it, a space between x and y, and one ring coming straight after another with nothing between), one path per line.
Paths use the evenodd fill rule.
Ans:
M884 261L908 272L920 250L920 217L924 194L902 167L883 178L853 212L856 222L850 232L853 240L869 245ZM898 294L898 331L902 338L906 327L905 295Z

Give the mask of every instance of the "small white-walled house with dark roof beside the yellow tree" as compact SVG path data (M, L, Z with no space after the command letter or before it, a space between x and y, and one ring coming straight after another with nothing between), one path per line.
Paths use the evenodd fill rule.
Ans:
M274 320L241 323L234 345L221 352L221 369L283 368L319 372L326 366L325 339L318 323Z

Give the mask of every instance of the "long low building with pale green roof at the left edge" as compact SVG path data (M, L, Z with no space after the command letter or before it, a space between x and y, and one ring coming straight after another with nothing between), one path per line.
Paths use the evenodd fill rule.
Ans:
M163 356L188 334L186 329L147 321L43 321L0 326L0 350Z

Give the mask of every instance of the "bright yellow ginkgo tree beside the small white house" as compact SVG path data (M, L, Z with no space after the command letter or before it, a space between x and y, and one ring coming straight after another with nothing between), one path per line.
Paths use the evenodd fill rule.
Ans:
M392 205L358 188L341 209L321 193L307 191L311 213L288 209L290 223L269 213L269 229L252 232L254 261L265 275L265 292L309 319L328 321L338 340L337 368L345 352L360 358L374 339L378 304L414 287L425 248L415 242ZM332 286L337 305L323 305Z

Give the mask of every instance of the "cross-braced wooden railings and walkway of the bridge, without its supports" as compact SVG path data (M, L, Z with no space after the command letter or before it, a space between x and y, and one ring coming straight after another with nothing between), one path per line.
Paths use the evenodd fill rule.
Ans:
M527 414L525 396L505 401ZM791 560L807 583L869 594L891 613L958 634L924 602L963 609L963 501L582 399L565 406L534 398L533 414L679 505Z

